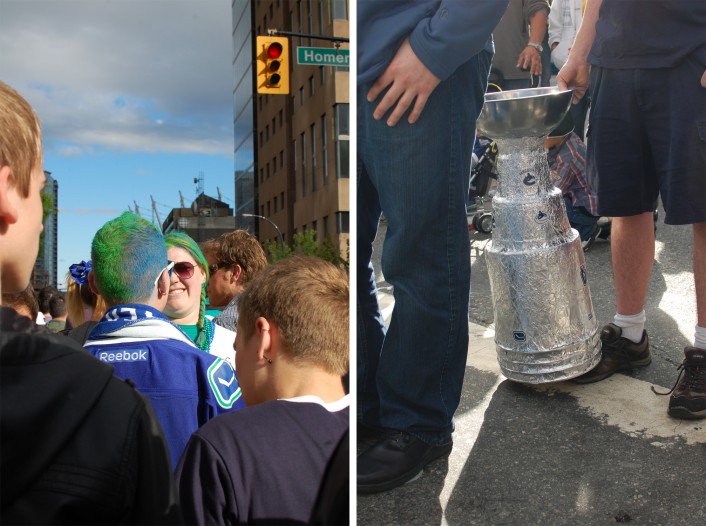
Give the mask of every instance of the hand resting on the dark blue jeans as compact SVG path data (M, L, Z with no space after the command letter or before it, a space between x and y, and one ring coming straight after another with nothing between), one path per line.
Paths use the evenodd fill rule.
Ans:
M409 39L404 39L390 64L378 77L370 91L368 102L378 98L388 86L385 96L373 111L375 119L382 119L385 113L394 106L387 118L388 126L395 126L407 109L414 103L407 122L414 124L422 114L429 95L439 85L439 79L415 55Z

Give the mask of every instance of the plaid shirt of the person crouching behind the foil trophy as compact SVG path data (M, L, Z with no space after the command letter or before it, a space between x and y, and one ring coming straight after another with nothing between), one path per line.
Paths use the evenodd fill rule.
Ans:
M554 186L571 197L573 205L598 215L596 193L586 181L586 144L571 132L556 148L547 152L547 162Z

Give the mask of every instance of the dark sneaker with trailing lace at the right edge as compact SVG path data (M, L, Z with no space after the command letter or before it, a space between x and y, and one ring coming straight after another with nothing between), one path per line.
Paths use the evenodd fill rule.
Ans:
M706 418L706 351L696 347L684 349L684 361L679 366L679 376L670 394L667 413L674 418L696 420Z

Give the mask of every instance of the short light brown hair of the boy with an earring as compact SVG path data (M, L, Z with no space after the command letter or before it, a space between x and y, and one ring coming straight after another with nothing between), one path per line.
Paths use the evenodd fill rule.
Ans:
M259 317L277 327L293 362L348 372L348 276L335 265L294 256L262 270L239 297L238 330L251 337Z

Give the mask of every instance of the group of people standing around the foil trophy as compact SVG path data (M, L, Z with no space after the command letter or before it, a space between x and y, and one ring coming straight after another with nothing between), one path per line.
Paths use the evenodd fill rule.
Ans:
M706 418L706 4L357 5L358 491L405 484L453 446L470 282L457 194L469 195L472 123L488 81L495 90L573 90L573 131L548 138L548 163L584 248L601 234L598 218L611 221L616 314L601 329L600 362L574 381L650 363L644 307L658 199L666 224L693 225L694 344L667 393L668 414ZM371 263L382 214L389 327Z

